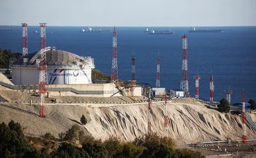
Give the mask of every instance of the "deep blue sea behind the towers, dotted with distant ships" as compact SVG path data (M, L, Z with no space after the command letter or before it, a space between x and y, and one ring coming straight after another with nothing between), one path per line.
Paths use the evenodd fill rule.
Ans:
M13 31L0 31L0 48L22 52L22 27ZM112 59L112 34L79 33L86 27L47 26L46 45L58 50L73 52L80 56L92 56L95 68L110 75ZM93 29L112 29L92 27ZM180 88L182 63L182 34L188 35L188 74L190 95L195 95L195 79L198 70L200 97L209 100L209 77L214 75L214 100L225 98L228 85L233 91L231 102L256 99L256 27L198 27L196 29L223 29L224 33L188 33L189 27L152 28L149 30L174 31L174 35L149 35L145 28L117 27L118 76L131 79L131 56L136 57L136 80L138 83L156 85L158 49L161 56L161 87ZM39 26L28 27L28 51L40 49Z

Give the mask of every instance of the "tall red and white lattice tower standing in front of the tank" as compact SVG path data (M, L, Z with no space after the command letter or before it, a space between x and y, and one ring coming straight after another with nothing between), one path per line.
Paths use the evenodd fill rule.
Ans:
M47 87L45 84L48 83L47 79L47 62L46 62L46 53L45 53L45 27L46 23L40 23L41 27L41 52L40 52L40 64L39 64L39 94L40 94L40 117L45 117L45 93Z

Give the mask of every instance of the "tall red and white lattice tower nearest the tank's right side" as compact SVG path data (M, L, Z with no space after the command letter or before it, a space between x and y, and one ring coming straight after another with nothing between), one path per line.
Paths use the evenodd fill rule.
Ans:
M117 58L116 58L116 27L113 32L113 59L111 69L111 83L118 84L118 69L117 69Z

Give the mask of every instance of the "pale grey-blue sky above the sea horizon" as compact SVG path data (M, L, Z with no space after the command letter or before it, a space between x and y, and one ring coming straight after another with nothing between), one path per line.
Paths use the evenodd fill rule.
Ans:
M0 0L0 25L256 26L256 0Z

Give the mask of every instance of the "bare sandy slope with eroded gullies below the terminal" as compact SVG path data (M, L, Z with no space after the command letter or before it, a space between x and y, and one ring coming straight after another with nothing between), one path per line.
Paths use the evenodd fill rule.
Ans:
M9 98L18 99L13 96L9 96ZM239 139L242 134L241 116L207 109L195 100L173 101L176 103L168 103L168 136L175 139L178 145L209 141L214 138L225 139L227 136ZM152 104L150 120L152 132L164 136L163 109L163 103ZM47 105L45 113L47 118L40 118L38 117L38 106L0 104L0 122L8 123L10 120L14 120L24 127L24 132L36 136L46 132L58 136L58 133L65 132L76 121L79 122L83 114L88 118L88 123L84 125L85 129L97 139L118 136L131 141L137 136L147 133L147 103L100 108L79 105ZM250 116L256 121L255 114ZM248 125L247 135L248 138L256 138L256 133Z

